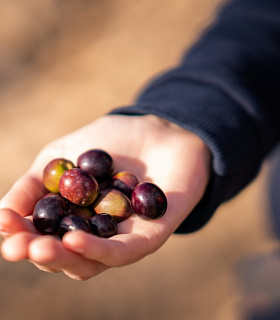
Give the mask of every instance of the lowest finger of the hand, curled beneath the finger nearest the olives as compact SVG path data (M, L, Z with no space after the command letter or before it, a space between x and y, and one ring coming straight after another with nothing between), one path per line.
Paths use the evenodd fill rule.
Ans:
M89 261L64 248L53 236L35 238L29 245L29 259L41 269L63 271L72 279L87 280L108 269L107 266Z

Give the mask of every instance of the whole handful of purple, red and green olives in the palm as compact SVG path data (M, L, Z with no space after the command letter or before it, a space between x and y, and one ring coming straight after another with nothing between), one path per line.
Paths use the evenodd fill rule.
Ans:
M74 230L109 238L132 213L158 219L167 208L158 186L129 171L114 173L113 158L101 149L82 153L77 166L53 159L44 168L43 184L49 193L36 203L33 223L39 232L60 238Z

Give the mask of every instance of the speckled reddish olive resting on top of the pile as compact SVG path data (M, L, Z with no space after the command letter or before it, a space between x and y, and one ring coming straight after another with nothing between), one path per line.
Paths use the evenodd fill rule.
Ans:
M99 193L98 183L87 171L74 168L63 173L59 182L62 197L77 206L87 207Z

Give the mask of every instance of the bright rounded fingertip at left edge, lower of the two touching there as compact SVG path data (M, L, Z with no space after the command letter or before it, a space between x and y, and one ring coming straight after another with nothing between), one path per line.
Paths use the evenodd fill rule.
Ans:
M4 240L1 245L1 253L8 261L20 261L28 259L28 246L38 235L21 232Z

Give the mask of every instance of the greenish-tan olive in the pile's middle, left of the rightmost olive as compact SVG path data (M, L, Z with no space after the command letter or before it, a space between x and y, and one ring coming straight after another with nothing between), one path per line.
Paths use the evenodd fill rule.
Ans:
M118 222L125 220L132 213L128 197L121 191L111 188L100 192L98 198L93 203L93 209L97 214L110 214Z

